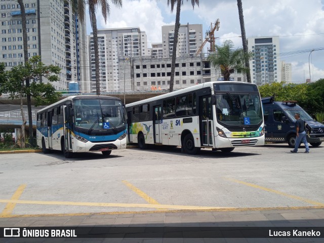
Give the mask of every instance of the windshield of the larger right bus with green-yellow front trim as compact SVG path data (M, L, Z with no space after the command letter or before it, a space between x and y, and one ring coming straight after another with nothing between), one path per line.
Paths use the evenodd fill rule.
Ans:
M258 125L262 106L257 94L216 94L217 120L229 126Z

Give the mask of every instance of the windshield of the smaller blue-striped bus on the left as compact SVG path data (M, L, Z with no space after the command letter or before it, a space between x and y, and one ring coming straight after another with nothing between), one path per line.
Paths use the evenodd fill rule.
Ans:
M126 124L123 105L118 100L74 101L75 126L86 129L115 129Z

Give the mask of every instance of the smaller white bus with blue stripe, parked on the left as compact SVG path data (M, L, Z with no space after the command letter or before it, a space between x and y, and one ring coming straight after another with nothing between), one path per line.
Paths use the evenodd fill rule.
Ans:
M120 99L108 96L70 96L37 112L37 145L44 153L73 153L124 149L127 115Z

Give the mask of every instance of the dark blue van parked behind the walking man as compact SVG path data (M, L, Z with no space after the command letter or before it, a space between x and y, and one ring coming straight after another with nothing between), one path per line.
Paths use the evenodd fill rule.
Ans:
M314 120L297 101L274 101L273 97L262 98L266 142L288 142L295 147L296 128L295 113L306 121L311 131L307 142L317 147L324 141L324 125Z

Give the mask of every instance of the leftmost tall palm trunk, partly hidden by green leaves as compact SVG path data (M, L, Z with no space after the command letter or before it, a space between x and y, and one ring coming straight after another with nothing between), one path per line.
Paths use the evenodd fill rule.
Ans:
M22 40L23 40L23 47L24 47L24 62L28 61L28 43L27 43L27 28L26 28L26 13L25 13L25 6L23 0L17 0L20 6L21 12L21 24L22 24ZM29 87L29 79L26 79L26 87ZM27 110L28 110L28 124L29 124L29 141L32 146L35 145L34 143L34 136L33 136L33 129L32 129L32 115L31 115L31 97L30 94L27 93Z

